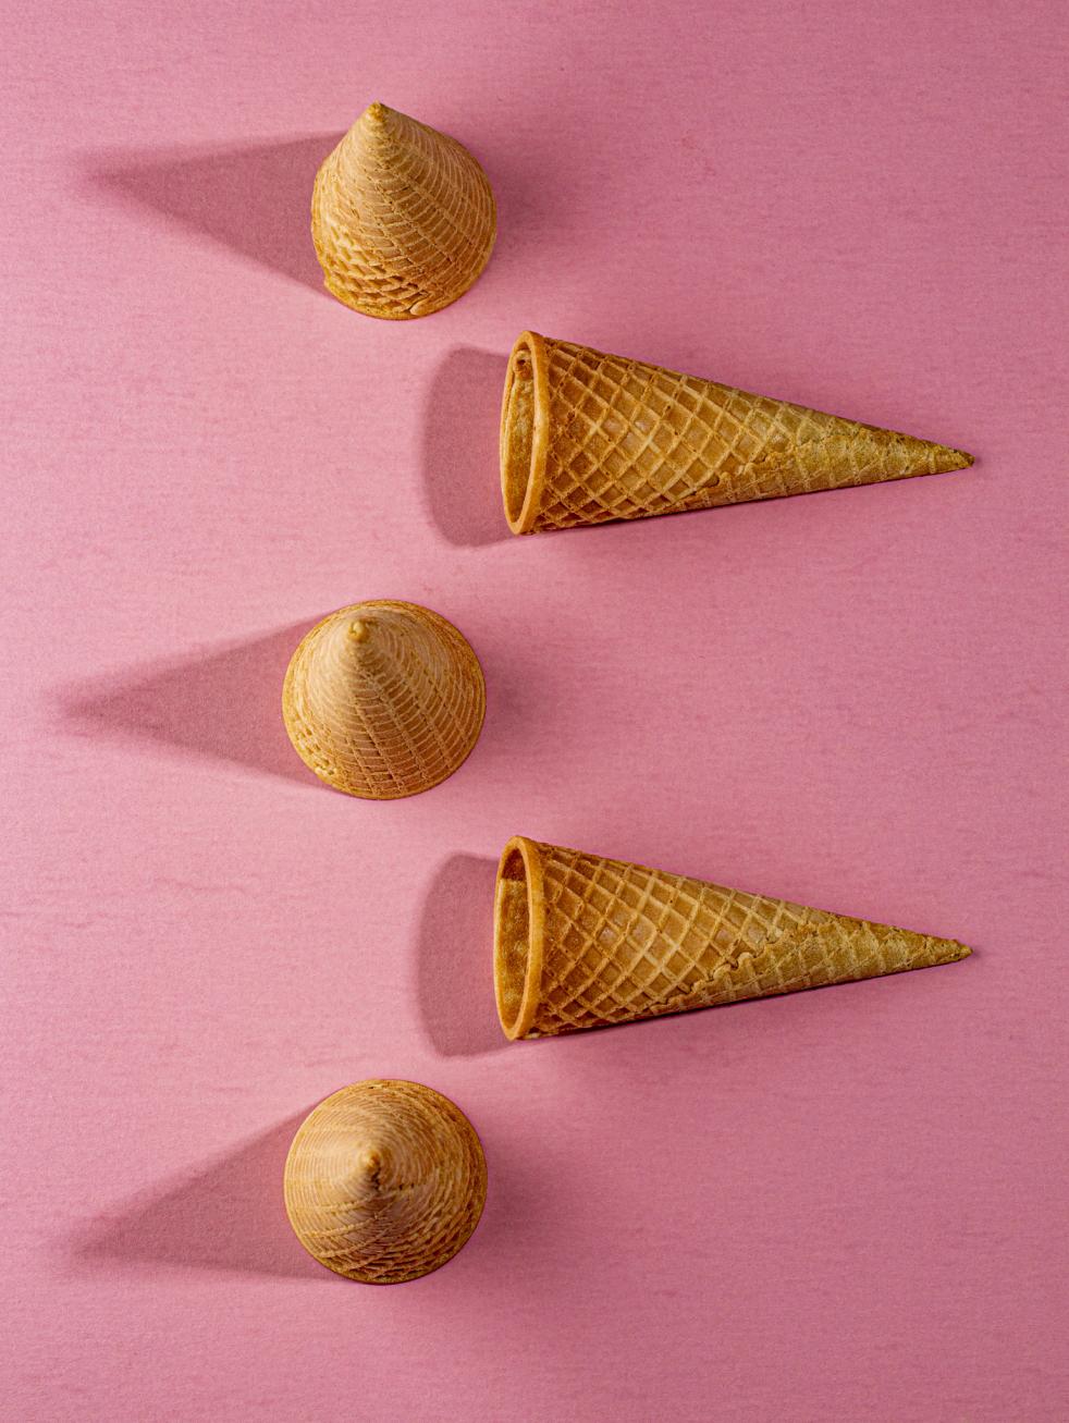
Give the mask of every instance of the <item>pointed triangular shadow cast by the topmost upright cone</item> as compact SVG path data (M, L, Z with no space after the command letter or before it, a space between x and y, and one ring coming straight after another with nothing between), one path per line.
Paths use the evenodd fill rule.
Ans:
M201 233L327 296L312 246L312 185L339 138L105 149L85 157L84 172L120 206Z

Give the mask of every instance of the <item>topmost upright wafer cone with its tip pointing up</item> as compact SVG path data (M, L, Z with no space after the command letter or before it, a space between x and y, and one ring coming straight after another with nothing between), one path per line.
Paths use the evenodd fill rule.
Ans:
M366 316L407 320L448 306L490 260L497 209L455 138L372 104L323 161L312 239L325 282Z

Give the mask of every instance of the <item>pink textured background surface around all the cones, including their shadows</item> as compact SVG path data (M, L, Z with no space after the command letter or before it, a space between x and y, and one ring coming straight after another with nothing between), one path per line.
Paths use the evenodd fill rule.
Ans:
M1066 1416L1062 6L4 4L11 1419ZM416 323L319 289L372 98L500 202ZM975 470L511 538L532 326ZM299 633L421 601L463 770L319 785ZM955 968L508 1046L522 831L965 939ZM468 1247L290 1235L297 1120L454 1097Z

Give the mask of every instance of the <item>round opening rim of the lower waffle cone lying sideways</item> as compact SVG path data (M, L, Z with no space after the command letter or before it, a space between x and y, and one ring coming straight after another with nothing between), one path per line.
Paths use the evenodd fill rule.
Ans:
M522 884L524 898L510 894ZM501 851L494 888L494 996L505 1037L525 1037L542 983L545 899L538 845L514 835ZM518 1005L518 1006L517 1006Z

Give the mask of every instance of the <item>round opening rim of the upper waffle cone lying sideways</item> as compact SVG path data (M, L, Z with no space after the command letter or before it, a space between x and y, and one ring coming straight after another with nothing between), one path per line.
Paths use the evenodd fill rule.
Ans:
M534 528L545 485L549 377L545 340L524 332L512 346L501 400L501 497L514 534Z

